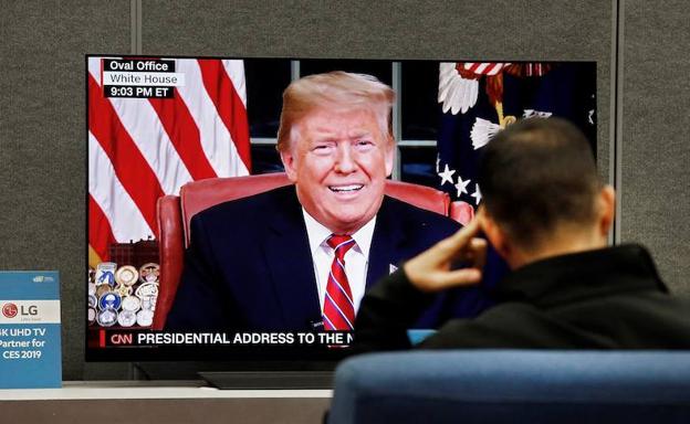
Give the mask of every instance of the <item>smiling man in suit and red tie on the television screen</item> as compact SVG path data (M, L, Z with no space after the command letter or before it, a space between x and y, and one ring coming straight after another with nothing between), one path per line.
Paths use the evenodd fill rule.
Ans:
M166 329L352 330L367 287L460 227L384 195L394 97L345 72L285 89L278 150L294 186L192 218Z

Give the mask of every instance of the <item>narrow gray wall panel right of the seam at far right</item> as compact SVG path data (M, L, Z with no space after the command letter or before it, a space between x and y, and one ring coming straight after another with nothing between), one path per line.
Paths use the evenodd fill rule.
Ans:
M652 251L673 292L690 296L690 12L688 2L623 8L620 240Z

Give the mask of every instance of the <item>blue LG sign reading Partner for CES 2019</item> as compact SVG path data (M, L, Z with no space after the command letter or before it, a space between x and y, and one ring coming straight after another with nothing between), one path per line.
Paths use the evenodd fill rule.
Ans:
M61 385L58 272L0 272L0 389Z

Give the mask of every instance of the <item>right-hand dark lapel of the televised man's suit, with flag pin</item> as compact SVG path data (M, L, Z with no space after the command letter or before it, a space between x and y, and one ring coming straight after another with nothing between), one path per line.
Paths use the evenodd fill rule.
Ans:
M390 199L384 198L376 215L376 227L369 250L366 287L372 287L379 278L390 274L390 265L399 266L400 247L405 243L405 231L400 216L390 210Z

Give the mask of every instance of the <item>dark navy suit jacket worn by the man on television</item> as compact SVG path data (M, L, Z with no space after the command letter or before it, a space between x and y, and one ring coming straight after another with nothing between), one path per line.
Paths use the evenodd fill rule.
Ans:
M460 224L386 197L366 284ZM293 186L210 208L191 220L191 243L166 329L311 330L321 322L306 226ZM420 326L438 320L439 300Z

